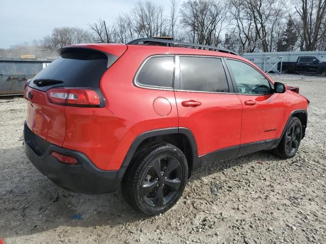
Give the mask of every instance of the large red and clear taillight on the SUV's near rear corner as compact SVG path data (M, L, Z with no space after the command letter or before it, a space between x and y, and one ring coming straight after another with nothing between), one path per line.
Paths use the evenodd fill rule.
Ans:
M95 90L86 88L52 88L47 91L51 103L62 105L100 105L100 97Z

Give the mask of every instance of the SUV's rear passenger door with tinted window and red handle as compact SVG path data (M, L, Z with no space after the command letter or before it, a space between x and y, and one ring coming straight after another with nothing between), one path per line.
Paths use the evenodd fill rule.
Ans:
M202 166L237 154L242 105L233 93L224 60L211 56L176 56L175 97L179 127L195 136ZM223 149L216 152L216 150ZM213 154L211 154L213 153Z

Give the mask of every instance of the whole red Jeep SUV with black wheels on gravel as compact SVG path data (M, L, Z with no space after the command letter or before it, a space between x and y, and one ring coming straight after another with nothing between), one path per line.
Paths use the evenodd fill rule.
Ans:
M298 88L230 50L138 39L59 53L26 85L24 151L68 190L121 186L133 208L157 215L191 171L262 149L291 158L305 136Z

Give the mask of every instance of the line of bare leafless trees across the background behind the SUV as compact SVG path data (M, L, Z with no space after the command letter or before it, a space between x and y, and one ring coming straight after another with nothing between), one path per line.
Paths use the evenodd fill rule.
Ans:
M326 49L326 0L186 0L180 8L178 1L170 0L168 9L153 0L139 1L106 27L98 19L88 30L54 28L30 46L54 50L75 43L106 43L107 32L108 39L118 43L169 35L238 52ZM28 50L16 47L12 53L20 49Z

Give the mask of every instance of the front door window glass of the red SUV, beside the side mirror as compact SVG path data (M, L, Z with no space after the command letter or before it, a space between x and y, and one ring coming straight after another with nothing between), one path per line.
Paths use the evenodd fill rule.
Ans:
M238 93L267 94L270 93L269 81L256 69L243 62L228 59Z

